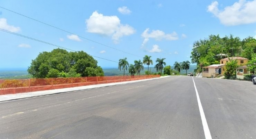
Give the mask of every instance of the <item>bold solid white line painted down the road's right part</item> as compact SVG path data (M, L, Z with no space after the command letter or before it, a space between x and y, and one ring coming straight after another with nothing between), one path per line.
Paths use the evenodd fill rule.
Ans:
M205 132L205 139L212 139L211 136L211 132L209 130L206 118L205 118L205 113L204 113L204 109L202 108L202 104L198 95L198 91L197 91L197 87L195 86L195 81L194 78L192 77L193 82L194 82L194 87L195 87L195 92L197 93L197 102L198 102L198 107L199 107L199 111L200 111L200 115L201 115L201 120L202 120L202 125L204 128L204 132Z

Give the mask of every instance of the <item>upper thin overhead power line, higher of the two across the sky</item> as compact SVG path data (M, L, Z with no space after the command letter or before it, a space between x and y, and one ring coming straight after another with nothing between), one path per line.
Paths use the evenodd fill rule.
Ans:
M22 15L22 14L20 14L20 13L17 13L17 12L15 12L15 11L12 11L12 10L9 10L9 9L6 9L6 8L3 8L3 7L1 7L1 6L0 6L0 8L5 9L5 10L8 10L8 11L10 11L10 12L13 12L13 13L18 14L18 15L21 15L21 16L27 17L27 18L29 18L29 19L32 19L32 20L36 21L36 22L40 22L40 23L42 23L42 24L45 24L45 25L54 27L54 28L56 28L56 29L58 29L58 30L62 30L62 31L64 31L64 32L67 32L67 33L70 33L70 34L77 35L77 34L74 34L74 33L69 32L69 31L63 30L63 29L61 29L61 28L59 28L59 27L56 27L56 26L53 26L53 25L44 23L44 22L39 21L39 20L37 20L37 19L34 19L34 18L28 17L28 16L26 16L26 15ZM86 39L86 40L88 40L88 41L92 41L92 42L98 43L98 44L100 44L100 45L102 45L102 46L106 46L106 47L108 47L108 48L112 48L112 49L115 49L115 50L124 52L124 53L126 53L126 54L130 54L130 55L133 55L133 56L137 56L137 55L131 54L131 53L129 53L129 52L122 51L122 50L119 50L119 49L116 49L116 48L107 46L107 45L105 45L105 44L103 44L103 43L100 43L100 42L97 42L97 41L93 41L93 40L91 40L91 39L87 39L87 38L85 38L85 37L83 37L83 36L80 36L80 35L77 35L77 36L79 36L79 37L81 37L81 38L83 38L83 39ZM137 57L141 57L141 56L137 56Z

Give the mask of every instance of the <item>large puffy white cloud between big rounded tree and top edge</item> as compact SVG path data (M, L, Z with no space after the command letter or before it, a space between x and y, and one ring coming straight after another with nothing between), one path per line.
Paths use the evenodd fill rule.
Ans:
M104 16L94 11L89 19L86 19L87 32L112 36L114 42L118 42L122 36L135 33L133 27L123 25L117 16Z

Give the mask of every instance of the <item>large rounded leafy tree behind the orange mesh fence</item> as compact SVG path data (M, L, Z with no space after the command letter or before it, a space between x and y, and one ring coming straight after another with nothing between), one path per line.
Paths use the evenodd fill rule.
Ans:
M97 60L84 51L68 52L64 49L54 49L51 52L41 52L36 59L32 60L28 67L28 73L35 78L90 76L85 69L101 69L97 66ZM98 70L99 75L104 76L103 70ZM62 74L61 74L62 73Z

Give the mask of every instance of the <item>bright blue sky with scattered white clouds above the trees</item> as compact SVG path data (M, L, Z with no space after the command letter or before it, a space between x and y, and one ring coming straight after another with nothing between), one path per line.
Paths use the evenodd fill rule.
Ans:
M3 8L1 29L83 50L104 68L145 55L154 65L160 57L171 66L190 61L193 43L211 34L256 38L256 0L2 0L0 6L73 34ZM1 30L0 38L0 68L26 68L40 52L57 48Z

